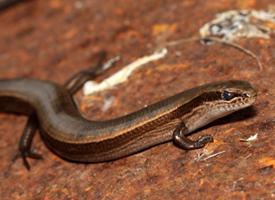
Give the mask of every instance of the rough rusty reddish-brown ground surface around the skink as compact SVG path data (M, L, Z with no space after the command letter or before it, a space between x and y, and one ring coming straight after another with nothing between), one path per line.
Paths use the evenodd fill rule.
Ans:
M198 34L215 13L265 9L272 0L34 0L0 12L0 78L32 77L63 83L93 64L100 51L122 60L104 77L165 41ZM192 137L215 142L185 152L159 145L109 163L76 164L49 151L37 135L43 161L11 164L26 117L0 114L0 199L275 199L275 43L242 39L264 69L244 53L220 44L189 42L97 98L78 94L90 119L110 119L210 81L243 79L258 90L253 109L238 112ZM100 79L104 78L100 77ZM114 97L102 111L104 98ZM90 106L91 105L91 106ZM252 142L241 139L258 134ZM214 157L208 157L221 153ZM201 157L201 155L204 155ZM208 159L207 159L208 158Z

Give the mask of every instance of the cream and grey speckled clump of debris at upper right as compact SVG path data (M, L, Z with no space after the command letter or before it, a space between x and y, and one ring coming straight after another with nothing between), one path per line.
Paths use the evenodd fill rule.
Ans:
M275 27L275 9L230 10L203 25L200 36L233 41L241 37L269 39Z

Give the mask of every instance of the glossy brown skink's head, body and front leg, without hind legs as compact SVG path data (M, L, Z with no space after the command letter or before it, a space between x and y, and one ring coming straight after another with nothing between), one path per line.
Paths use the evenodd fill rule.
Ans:
M71 93L62 85L24 78L0 80L2 110L33 113L46 145L59 156L80 162L115 160L171 140L182 149L201 148L212 137L191 141L189 133L252 105L255 99L256 91L248 82L215 82L126 116L90 121L80 114ZM25 107L15 107L15 103ZM22 110L26 107L29 109Z

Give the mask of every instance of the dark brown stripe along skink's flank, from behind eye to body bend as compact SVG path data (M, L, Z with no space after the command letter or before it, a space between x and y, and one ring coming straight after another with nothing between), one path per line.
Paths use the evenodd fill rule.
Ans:
M44 135L44 139L46 141L49 141L50 146L53 149L66 149L66 151L70 150L71 154L81 154L83 150L87 153L102 153L104 151L109 151L110 149L114 149L116 147L119 147L134 138L137 138L144 134L145 132L151 131L155 129L156 127L162 126L163 124L166 124L167 122L174 120L176 118L180 118L188 113L190 113L194 108L197 108L198 106L202 105L204 102L212 102L221 99L221 92L206 92L202 93L198 97L194 98L190 102L180 106L179 108L175 109L174 111L167 113L166 115L163 115L153 121L150 121L143 126L138 126L135 129L128 131L126 133L123 133L115 138L110 138L107 140L104 140L102 142L97 143L87 143L87 144L64 144L61 141L54 140L50 138L47 134Z

